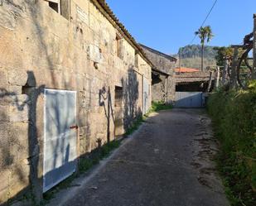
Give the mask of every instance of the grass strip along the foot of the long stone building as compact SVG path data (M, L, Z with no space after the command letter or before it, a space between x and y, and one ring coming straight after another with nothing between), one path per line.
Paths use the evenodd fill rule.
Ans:
M133 134L136 130L138 130L138 127L146 120L149 113L158 112L161 110L167 110L171 109L172 106L170 104L165 104L161 102L152 102L152 108L149 110L149 112L141 117L138 117L138 119L133 122L133 125L128 128L128 130L125 133L125 136ZM57 184L53 189L46 192L43 197L43 201L40 205L45 205L50 202L51 199L55 197L55 195L61 190L69 188L76 178L78 178L80 175L85 174L86 171L91 169L94 165L99 164L99 160L104 159L105 157L109 156L111 151L114 151L114 149L118 148L120 146L122 140L118 141L110 141L109 143L105 144L104 146L101 146L91 153L89 153L85 157L80 157L79 159L79 171L64 181L62 181L60 184Z

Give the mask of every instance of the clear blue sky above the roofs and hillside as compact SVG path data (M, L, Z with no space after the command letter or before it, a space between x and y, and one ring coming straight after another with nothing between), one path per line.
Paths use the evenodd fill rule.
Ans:
M135 39L167 54L191 44L215 0L106 0ZM256 0L219 0L205 26L215 34L210 46L239 44L253 30ZM199 39L193 42L200 43Z

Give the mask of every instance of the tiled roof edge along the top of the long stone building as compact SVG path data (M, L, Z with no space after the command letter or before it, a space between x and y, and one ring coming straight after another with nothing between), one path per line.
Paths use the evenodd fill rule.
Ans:
M109 22L122 34L122 36L135 48L136 52L142 56L142 59L145 60L147 64L151 65L152 68L156 68L152 62L148 60L142 48L138 45L137 41L135 41L125 26L119 22L118 17L115 16L107 2L105 2L105 0L91 0L91 2L94 3L95 7L97 7L99 11L103 13L104 17L106 17Z

